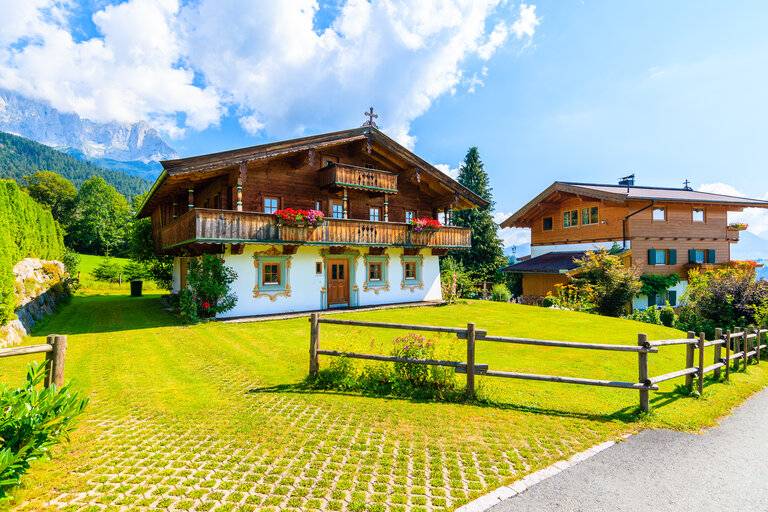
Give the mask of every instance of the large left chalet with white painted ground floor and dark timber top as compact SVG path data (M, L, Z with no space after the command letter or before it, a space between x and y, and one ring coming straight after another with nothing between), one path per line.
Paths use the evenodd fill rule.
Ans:
M230 316L441 299L438 256L468 249L451 212L486 204L370 121L351 130L162 162L138 216L158 253L221 255L238 274ZM286 208L320 226L279 225ZM416 219L440 219L419 232Z

